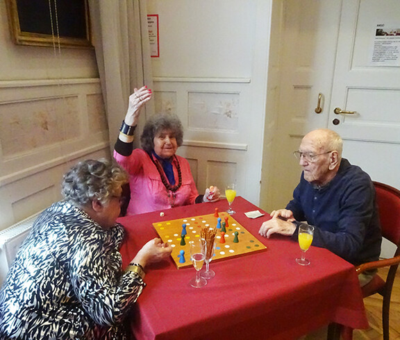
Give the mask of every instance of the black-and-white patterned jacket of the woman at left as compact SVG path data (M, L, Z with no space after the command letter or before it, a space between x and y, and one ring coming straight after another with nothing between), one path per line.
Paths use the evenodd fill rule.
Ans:
M121 269L123 237L63 201L42 212L0 291L0 339L125 339L144 282Z

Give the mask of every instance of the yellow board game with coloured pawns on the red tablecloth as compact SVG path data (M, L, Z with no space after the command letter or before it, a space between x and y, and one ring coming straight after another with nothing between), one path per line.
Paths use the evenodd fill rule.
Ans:
M220 220L218 221L218 219ZM221 230L223 229L221 228L221 224L224 223L226 223L224 225L226 232L224 233L225 242L222 243ZM183 228L184 224L185 228ZM202 228L217 227L213 261L245 255L267 248L226 212L215 212L214 214L188 217L185 219L156 222L153 223L153 227L158 232L160 239L162 239L164 243L168 243L172 246L171 256L178 269L192 266L189 242L195 237L200 237ZM184 237L182 237L182 233L184 233L183 229L185 229L186 232ZM185 252L183 254L185 262L183 263L181 263L181 250Z

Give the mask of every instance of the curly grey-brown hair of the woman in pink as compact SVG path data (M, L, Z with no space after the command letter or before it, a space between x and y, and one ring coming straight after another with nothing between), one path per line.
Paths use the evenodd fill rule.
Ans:
M154 137L163 130L171 130L175 135L176 144L183 143L183 127L176 114L155 114L147 119L144 124L140 142L144 151L151 153L154 148Z

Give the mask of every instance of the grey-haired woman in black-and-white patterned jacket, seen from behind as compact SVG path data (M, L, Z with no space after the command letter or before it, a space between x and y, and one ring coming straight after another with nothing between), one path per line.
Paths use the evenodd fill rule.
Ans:
M144 267L172 248L152 239L122 271L119 216L126 172L87 160L64 176L65 201L35 221L0 291L0 339L127 339L124 316Z

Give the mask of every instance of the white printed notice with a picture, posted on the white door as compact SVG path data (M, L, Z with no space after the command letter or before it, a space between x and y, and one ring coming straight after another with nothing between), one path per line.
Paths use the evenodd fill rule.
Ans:
M400 23L377 24L371 65L400 66Z

